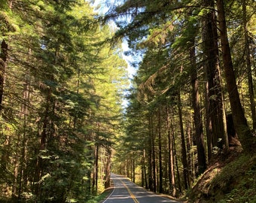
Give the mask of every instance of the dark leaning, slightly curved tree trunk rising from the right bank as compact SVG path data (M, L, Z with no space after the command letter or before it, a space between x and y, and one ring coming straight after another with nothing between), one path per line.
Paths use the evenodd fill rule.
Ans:
M255 138L248 127L244 111L239 98L236 86L236 77L233 71L233 62L230 53L230 45L227 38L227 26L224 12L223 0L217 0L218 22L220 27L221 50L224 63L224 72L227 82L227 92L230 98L230 106L233 114L233 122L244 150L254 151Z

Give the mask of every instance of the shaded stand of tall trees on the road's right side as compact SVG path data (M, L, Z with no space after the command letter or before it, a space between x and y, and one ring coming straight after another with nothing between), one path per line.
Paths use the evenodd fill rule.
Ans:
M106 14L120 28L115 38L142 57L114 171L178 197L217 156L255 153L254 8L127 0Z

